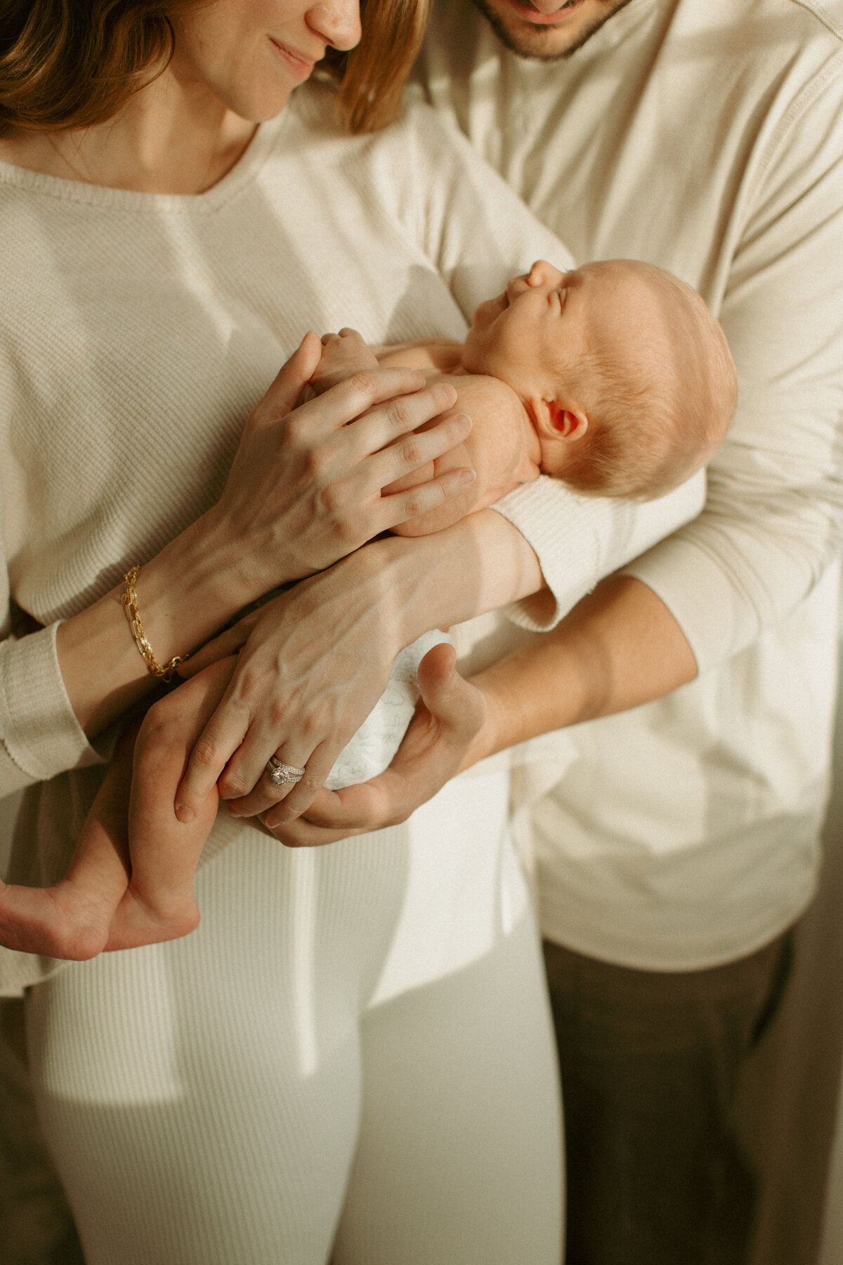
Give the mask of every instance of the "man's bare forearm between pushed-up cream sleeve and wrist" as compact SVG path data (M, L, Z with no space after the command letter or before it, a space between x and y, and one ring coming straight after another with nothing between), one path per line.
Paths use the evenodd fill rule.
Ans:
M551 632L473 677L488 724L464 762L652 702L693 681L685 635L647 584L609 576Z

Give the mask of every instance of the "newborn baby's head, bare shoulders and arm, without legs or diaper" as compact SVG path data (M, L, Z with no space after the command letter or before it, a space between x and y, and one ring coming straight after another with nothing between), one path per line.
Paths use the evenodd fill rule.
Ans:
M631 259L571 272L540 259L478 307L464 343L420 339L373 354L451 382L454 411L473 419L436 466L471 464L475 483L397 528L403 535L456 521L540 471L576 492L662 496L709 459L737 395L725 335L696 291ZM351 355L359 363L359 348Z

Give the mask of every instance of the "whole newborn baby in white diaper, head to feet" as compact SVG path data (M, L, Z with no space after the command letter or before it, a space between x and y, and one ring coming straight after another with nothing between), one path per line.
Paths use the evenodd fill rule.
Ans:
M474 483L397 528L402 535L449 526L540 472L579 492L660 496L710 457L736 400L725 338L699 295L670 273L631 261L571 272L540 261L478 307L464 343L369 348L354 330L322 343L315 392L359 369L399 364L445 377L458 392L452 411L473 417L465 443L435 464L439 471L471 466ZM430 477L430 469L417 471L384 492ZM368 781L391 763L418 697L418 663L444 639L427 634L402 651L383 698L331 769L329 788ZM200 706L209 706L214 688L212 669L202 676L207 697L195 715L182 703L183 743L167 754L159 749L154 769L142 759L133 773L134 734L124 735L68 875L53 888L0 887L0 944L91 958L106 946L167 940L197 925L193 870L217 797L188 825L176 818L173 802L203 724ZM183 688L169 696L174 706Z

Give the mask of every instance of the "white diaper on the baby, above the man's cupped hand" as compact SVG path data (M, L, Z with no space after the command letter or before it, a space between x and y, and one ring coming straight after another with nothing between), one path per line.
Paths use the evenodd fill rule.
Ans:
M325 782L329 791L368 782L391 764L418 702L418 664L432 646L442 641L450 644L451 638L435 629L401 651L383 694L337 755Z

